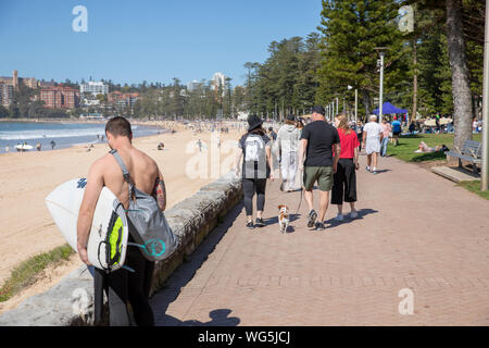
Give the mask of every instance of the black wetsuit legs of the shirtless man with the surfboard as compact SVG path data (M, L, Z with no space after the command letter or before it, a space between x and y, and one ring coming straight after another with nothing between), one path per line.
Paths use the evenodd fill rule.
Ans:
M129 241L133 238L129 236ZM128 246L125 265L135 272L120 269L115 272L105 272L96 269L95 295L96 295L96 321L101 314L100 296L102 289L108 288L109 316L111 326L128 326L130 324L127 312L127 301L133 308L134 319L138 326L154 325L154 315L149 304L149 294L153 276L154 262L148 261L141 250L135 246ZM97 301L97 298L99 300ZM99 314L97 314L99 313Z

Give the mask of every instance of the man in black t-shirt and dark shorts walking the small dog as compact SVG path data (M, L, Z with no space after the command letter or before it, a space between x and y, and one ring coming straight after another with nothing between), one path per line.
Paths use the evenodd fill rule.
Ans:
M315 229L322 231L325 229L324 216L328 209L333 174L337 171L341 148L338 130L326 122L324 108L314 107L312 111L313 122L308 124L301 134L299 167L304 169L304 198L309 206L308 227L315 226ZM316 182L319 188L318 215L313 204L313 187Z

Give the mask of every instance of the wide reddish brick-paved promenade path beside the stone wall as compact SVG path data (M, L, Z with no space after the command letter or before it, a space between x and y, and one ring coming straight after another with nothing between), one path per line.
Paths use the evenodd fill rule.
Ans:
M156 324L488 325L489 201L393 158L376 176L361 164L360 217L336 223L330 206L325 232L309 231L303 201L278 233L277 206L294 213L300 198L278 181L260 233L237 207L152 298Z

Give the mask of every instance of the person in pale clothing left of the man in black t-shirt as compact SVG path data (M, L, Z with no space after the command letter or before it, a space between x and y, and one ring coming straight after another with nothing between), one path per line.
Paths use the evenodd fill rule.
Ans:
M290 192L293 189L298 169L297 152L300 138L301 130L296 127L296 116L290 114L287 116L285 124L278 129L277 135L277 149L283 178L281 191Z

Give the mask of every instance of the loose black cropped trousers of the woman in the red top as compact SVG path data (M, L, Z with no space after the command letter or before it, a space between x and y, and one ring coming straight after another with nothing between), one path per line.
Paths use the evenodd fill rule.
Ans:
M339 159L333 177L331 204L356 201L356 173L352 159Z

